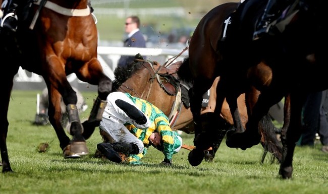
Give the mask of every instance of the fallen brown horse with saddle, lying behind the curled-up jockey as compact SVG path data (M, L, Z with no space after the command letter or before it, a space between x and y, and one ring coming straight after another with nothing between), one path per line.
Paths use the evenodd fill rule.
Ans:
M175 62L169 67L164 67L156 61L136 60L134 63L129 64L127 68L119 67L115 69L113 91L128 92L133 96L149 101L161 109L169 119L173 120L171 121L171 127L173 130L180 130L187 134L193 134L193 117L188 102L183 102L183 105L181 105L180 108L176 110L174 109L176 105L175 103L186 98L186 96L188 97L188 92L177 94L179 87L181 90L184 90L184 86L188 85L188 83L180 81L179 77L177 77L178 80L175 80L174 78L174 76L177 76L177 71L180 67L181 61ZM204 150L202 157L197 157L195 162L201 162L203 158L205 158L206 161L212 161L218 147L220 147L220 144L226 135L226 132L233 127L232 115L226 101L223 103L220 117L213 118L216 98L215 90L218 80L218 78L215 79L210 88L209 102L206 107L202 107L201 115L206 121L204 122L203 128L212 127L212 125L215 124L220 130L214 131L211 134L212 137L207 139L207 141L210 142L209 145L211 149ZM245 124L247 121L245 95L241 95L238 98L238 105L243 124ZM176 113L174 111L178 113L177 118L172 116ZM271 122L271 120L268 121ZM273 125L271 126L273 127ZM262 145L266 152L264 152L262 157L262 163L267 152L272 153L272 156L274 156L279 162L281 161L281 144L277 141L274 130L271 132L273 132L273 134L263 134L263 137L265 138L263 138ZM105 134L102 134L102 136L105 136ZM107 137L106 139L110 138Z

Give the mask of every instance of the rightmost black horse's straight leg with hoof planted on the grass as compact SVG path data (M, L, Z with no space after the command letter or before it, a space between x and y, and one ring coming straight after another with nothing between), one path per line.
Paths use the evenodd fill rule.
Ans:
M285 105L287 118L284 120L287 121L286 126L283 127L281 140L283 143L283 158L280 164L279 174L282 178L287 179L292 177L293 173L293 155L295 151L295 146L299 138L301 137L301 128L302 128L302 107L306 100L306 95L303 94L291 94L290 99L286 98ZM285 111L285 110L284 110ZM285 114L286 117L286 114ZM288 122L288 117L290 118ZM285 124L284 124L285 125ZM287 131L286 131L287 128Z

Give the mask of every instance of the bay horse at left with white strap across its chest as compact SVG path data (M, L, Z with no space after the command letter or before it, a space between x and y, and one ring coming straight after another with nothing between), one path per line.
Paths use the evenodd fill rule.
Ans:
M79 158L88 154L86 139L93 133L89 126L99 124L106 97L112 90L112 81L105 76L97 60L97 28L87 0L28 1L28 5L20 5L18 9L16 33L5 29L0 32L1 58L11 61L6 74L0 78L4 83L4 99L0 102L3 172L13 171L6 143L9 126L7 113L13 78L19 67L41 75L46 83L49 121L56 131L64 158ZM98 85L98 97L84 123L78 116L76 92L67 80L72 73L83 82ZM61 96L69 115L72 139L66 135L61 124Z

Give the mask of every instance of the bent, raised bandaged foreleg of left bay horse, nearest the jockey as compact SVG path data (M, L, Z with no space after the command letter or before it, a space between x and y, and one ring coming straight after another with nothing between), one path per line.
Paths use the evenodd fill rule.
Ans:
M99 126L102 119L102 113L107 104L107 96L112 91L112 80L108 78L101 68L101 64L97 58L92 58L78 72L77 77L92 85L98 85L98 96L92 106L88 120L83 122L83 137L90 138L95 127Z

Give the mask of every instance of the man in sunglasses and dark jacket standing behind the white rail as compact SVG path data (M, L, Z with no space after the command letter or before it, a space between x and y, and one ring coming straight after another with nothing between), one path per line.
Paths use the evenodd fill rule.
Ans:
M125 47L146 47L146 41L139 30L139 26L140 19L137 16L130 16L125 20L125 32L128 34L127 39L124 41ZM143 58L146 60L145 56ZM122 55L118 62L118 67L125 68L133 60L134 55Z

